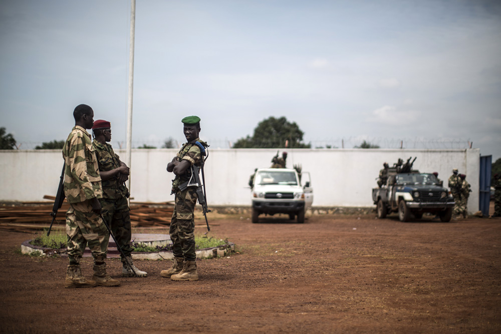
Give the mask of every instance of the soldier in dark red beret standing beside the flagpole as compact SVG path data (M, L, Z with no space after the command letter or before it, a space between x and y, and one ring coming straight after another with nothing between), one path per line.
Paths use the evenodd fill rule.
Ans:
M129 178L129 167L115 154L107 142L111 141L111 124L105 120L97 120L92 127L94 141L92 146L96 156L103 186L103 198L99 200L102 207L103 218L115 236L115 239L132 266L127 264L127 259L122 256L122 276L146 277L147 272L141 271L132 262L130 210L127 198L129 190L124 182ZM134 274L135 272L135 274Z

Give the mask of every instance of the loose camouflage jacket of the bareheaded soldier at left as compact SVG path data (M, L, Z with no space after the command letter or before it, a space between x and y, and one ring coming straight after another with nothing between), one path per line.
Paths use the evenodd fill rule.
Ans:
M80 126L73 127L63 147L65 160L64 193L68 202L101 198L101 177L91 135Z

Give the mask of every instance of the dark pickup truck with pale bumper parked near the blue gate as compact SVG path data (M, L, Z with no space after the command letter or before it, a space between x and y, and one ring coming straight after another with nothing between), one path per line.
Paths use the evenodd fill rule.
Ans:
M372 189L372 200L378 218L398 212L400 221L408 221L411 214L420 219L424 212L430 212L447 222L454 207L454 199L435 175L419 171L390 174L386 185Z

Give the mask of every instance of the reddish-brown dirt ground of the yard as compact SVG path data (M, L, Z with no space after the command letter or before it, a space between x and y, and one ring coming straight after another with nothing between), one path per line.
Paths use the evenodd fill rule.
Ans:
M0 231L0 332L501 332L501 219L248 218L211 220L239 254L197 261L198 281L161 277L169 261L122 278L108 259L119 287L64 288L67 259L22 255L31 235Z

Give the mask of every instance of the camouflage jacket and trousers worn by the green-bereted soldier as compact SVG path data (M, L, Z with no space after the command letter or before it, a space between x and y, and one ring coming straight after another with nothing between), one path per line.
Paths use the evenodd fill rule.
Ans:
M200 139L185 143L177 153L177 161L187 160L190 165L200 166L202 155L200 148L195 144ZM185 261L195 261L195 222L193 211L197 200L196 189L189 187L180 191L178 186L191 177L191 169L172 180L172 192L175 193L175 204L172 219L170 221L169 234L172 241L172 251L175 257L184 258Z

